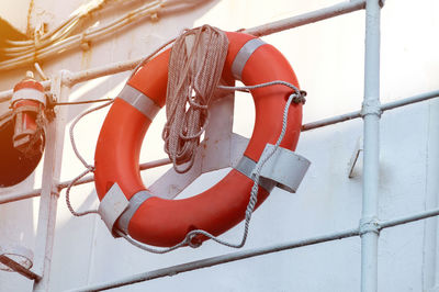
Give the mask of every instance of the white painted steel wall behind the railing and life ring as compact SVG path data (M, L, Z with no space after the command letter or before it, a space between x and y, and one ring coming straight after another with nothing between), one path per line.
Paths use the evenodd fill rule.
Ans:
M66 19L85 0L35 0L33 21L45 18L49 25ZM144 21L111 40L92 43L87 52L76 50L46 60L47 75L60 69L78 71L147 55L184 27L204 23L224 30L251 27L312 11L338 1L222 0L198 9ZM43 11L43 12L42 12ZM382 11L382 102L439 88L439 30L435 0L386 1ZM48 18L49 15L49 18ZM111 16L110 16L111 18ZM308 92L304 123L360 109L363 92L364 12L281 32L263 40L290 60L300 83ZM0 90L10 89L24 70L2 72ZM115 97L128 74L103 77L76 86L71 101ZM252 108L249 97L238 94L235 130L251 134ZM4 106L4 105L2 105ZM68 121L89 106L69 108ZM0 109L1 110L1 109ZM384 113L381 127L380 218L392 218L436 206L438 186L439 103L423 102ZM86 117L77 127L78 147L90 162L104 111ZM146 137L142 161L162 158L161 112ZM278 117L280 119L280 116ZM297 153L312 167L299 192L274 190L255 213L245 248L299 239L358 226L361 214L361 167L347 177L347 164L359 136L361 120L302 134ZM66 136L61 180L82 171ZM361 161L360 161L361 162ZM143 172L148 186L166 167ZM185 193L198 193L217 181L225 171L205 175ZM41 169L18 187L0 195L40 187ZM74 189L77 209L95 209L92 184ZM132 273L158 269L233 251L214 243L199 249L150 255L113 239L97 216L70 215L61 193L50 273L50 291L64 291L89 283L115 280ZM16 242L33 248L38 199L0 205L0 243ZM436 220L386 229L380 237L380 291L437 291ZM14 232L8 232L15 228ZM237 242L241 226L224 235ZM13 236L9 236L12 234ZM7 238L7 240L4 239ZM30 291L32 283L20 276L0 272L0 291ZM360 238L282 251L226 263L214 268L154 280L117 291L359 291Z

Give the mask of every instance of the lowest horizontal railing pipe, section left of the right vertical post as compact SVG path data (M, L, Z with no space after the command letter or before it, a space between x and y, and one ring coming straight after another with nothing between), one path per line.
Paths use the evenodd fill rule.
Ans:
M110 283L102 283L102 284L90 285L87 288L70 290L70 292L72 292L72 291L75 291L75 292L77 292L77 291L102 291L102 290L113 289L113 288L117 288L117 287L134 284L134 283L143 282L143 281L148 281L148 280L153 280L153 279L164 278L167 276L175 276L175 274L178 274L181 272L188 272L188 271L192 271L192 270L196 270L196 269L213 267L213 266L217 266L221 263L232 262L232 261L236 261L236 260L240 260L240 259L272 254L272 252L277 252L277 251L302 247L302 246L316 245L316 244L326 243L326 242L330 242L330 240L335 240L335 239L348 238L348 237L352 237L352 236L357 236L357 235L359 235L358 228L347 229L347 231L342 231L342 232L338 232L338 233L331 233L328 235L290 242L290 243L285 243L285 244L281 244L281 245L272 245L272 246L268 246L268 247L263 247L263 248L237 251L237 252L233 252L233 254L228 254L228 255L195 260L195 261L191 261L191 262L187 262L187 263L181 263L178 266L172 266L172 267L158 269L158 270L154 270L154 271L149 271L149 272L145 272L145 273L130 276L130 277L126 277L121 280L110 282Z

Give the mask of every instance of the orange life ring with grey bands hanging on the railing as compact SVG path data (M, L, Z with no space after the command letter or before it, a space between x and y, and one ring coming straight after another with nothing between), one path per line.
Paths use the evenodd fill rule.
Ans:
M225 80L238 79L246 86L283 80L299 88L293 69L273 46L255 36L228 32ZM244 220L254 181L239 170L230 172L214 187L182 200L154 196L139 175L139 154L145 133L155 114L165 105L170 49L140 67L127 81L111 106L95 149L95 189L102 201L117 183L130 200L119 227L133 238L154 246L170 247L193 229L215 236ZM240 165L256 164L267 143L274 144L282 128L282 113L290 88L270 86L251 91L256 122ZM281 147L294 150L302 125L302 104L289 109L288 130ZM259 188L258 204L269 195L272 186ZM204 236L194 238L199 243Z

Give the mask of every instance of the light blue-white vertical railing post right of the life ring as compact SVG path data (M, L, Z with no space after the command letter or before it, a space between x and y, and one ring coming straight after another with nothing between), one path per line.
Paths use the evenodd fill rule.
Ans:
M379 209L380 173L380 13L379 0L367 0L364 48L363 196L361 234L361 291L378 291L378 242L374 228Z

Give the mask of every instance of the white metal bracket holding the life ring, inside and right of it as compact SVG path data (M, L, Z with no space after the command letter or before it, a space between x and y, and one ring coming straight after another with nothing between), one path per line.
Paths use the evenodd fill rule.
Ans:
M217 99L210 108L210 123L204 141L198 147L192 168L183 175L171 168L148 189L157 196L173 199L202 173L236 167L248 138L232 132L233 113L233 93ZM261 177L274 181L277 187L295 192L308 167L307 159L280 147L262 168Z

